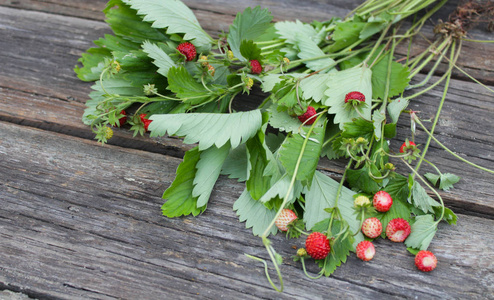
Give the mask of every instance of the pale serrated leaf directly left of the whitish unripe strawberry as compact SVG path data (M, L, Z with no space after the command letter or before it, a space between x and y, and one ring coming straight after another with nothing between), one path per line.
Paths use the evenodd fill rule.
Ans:
M246 228L252 228L252 233L261 236L276 216L276 210L268 209L264 204L252 199L247 189L233 204L233 210L237 212L240 222L245 222ZM276 234L277 228L273 226L269 234Z

